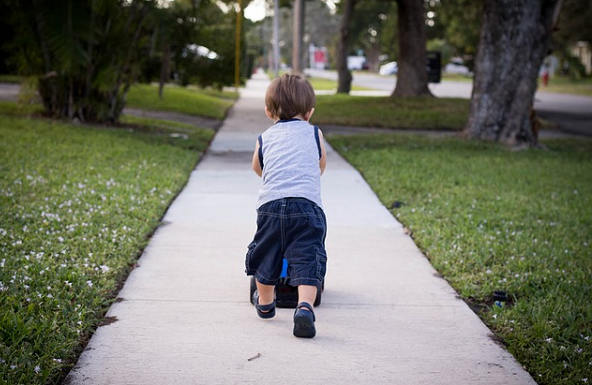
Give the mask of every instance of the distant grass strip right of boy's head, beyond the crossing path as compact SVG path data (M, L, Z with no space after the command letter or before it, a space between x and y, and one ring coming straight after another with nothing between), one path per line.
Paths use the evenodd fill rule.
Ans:
M389 98L348 95L317 96L315 124L460 131L469 100L456 98Z

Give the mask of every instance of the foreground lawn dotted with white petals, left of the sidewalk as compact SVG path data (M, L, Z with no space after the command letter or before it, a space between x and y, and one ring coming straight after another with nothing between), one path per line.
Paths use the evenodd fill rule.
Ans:
M57 383L214 133L14 106L0 104L0 383Z

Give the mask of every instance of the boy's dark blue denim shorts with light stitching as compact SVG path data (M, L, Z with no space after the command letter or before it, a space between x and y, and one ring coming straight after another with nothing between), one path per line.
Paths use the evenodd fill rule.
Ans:
M323 210L305 198L283 198L257 209L257 232L248 247L247 275L264 285L279 281L283 258L292 286L320 286L327 270Z

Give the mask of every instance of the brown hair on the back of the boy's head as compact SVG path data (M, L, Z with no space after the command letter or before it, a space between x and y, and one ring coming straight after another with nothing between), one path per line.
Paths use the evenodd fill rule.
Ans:
M272 116L281 120L304 116L314 108L316 97L314 89L305 78L285 74L275 78L265 93L265 106Z

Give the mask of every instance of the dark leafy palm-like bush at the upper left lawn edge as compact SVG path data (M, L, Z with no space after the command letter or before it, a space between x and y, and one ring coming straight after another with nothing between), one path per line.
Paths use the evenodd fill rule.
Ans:
M20 73L38 77L47 115L116 122L149 42L153 1L36 0L11 4Z

